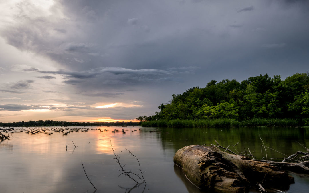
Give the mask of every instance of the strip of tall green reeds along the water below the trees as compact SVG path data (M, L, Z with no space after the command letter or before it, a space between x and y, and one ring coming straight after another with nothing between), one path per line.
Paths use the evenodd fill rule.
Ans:
M154 120L142 122L142 127L299 127L299 123L295 119L248 119L248 120L235 120L235 119L211 119L211 120Z

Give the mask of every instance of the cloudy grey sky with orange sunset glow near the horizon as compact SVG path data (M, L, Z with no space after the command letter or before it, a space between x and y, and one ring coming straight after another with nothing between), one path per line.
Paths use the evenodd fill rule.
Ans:
M0 122L136 121L211 80L309 70L306 0L2 0Z

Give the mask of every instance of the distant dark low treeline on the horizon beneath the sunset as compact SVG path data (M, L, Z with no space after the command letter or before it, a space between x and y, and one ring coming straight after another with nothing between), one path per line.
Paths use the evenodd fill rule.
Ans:
M69 122L69 121L53 121L53 120L39 120L39 121L19 121L15 123L0 123L0 127L32 127L32 126L114 126L114 125L137 125L137 122L125 123L108 123L108 122Z

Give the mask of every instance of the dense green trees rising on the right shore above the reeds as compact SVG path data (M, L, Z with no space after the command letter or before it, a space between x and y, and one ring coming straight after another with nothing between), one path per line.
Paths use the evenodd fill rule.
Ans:
M159 110L137 120L287 118L309 125L309 73L296 73L285 80L267 74L242 82L212 80L205 88L197 86L173 94L172 100L162 103Z

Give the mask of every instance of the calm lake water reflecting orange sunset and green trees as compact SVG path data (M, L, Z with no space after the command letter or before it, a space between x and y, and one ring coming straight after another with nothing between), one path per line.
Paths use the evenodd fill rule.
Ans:
M20 132L16 128L10 140L0 143L0 192L93 192L88 177L98 192L194 192L178 167L174 167L175 152L193 144L214 143L222 146L235 145L238 151L244 147L255 151L257 158L265 156L261 140L266 146L290 155L305 149L298 142L309 147L309 129L303 128L141 128L141 127L63 127L62 129L84 128L87 132L54 132L60 127L44 127L45 132L35 135ZM124 128L125 134L121 132ZM40 128L26 128L42 130ZM50 130L49 130L50 129ZM100 129L100 130L99 130ZM108 129L108 131L103 131ZM111 132L114 129L120 132ZM134 131L136 129L137 131ZM141 130L139 130L141 129ZM157 130L156 130L157 129ZM150 130L155 132L149 132ZM48 135L51 133L52 135ZM64 130L67 132L69 130ZM77 146L74 148L74 145ZM298 141L298 142L297 142ZM147 185L134 187L135 183L118 171L111 143L120 162L127 170L139 172L138 162L129 155L129 149L141 163ZM66 149L67 145L67 149ZM232 149L232 148L231 148ZM273 150L267 150L268 157L283 157ZM295 184L287 192L307 192L309 177L295 175ZM133 189L132 189L133 188ZM254 190L252 190L254 192Z

